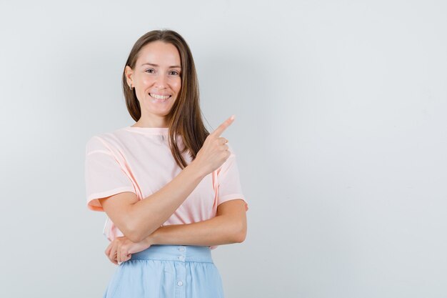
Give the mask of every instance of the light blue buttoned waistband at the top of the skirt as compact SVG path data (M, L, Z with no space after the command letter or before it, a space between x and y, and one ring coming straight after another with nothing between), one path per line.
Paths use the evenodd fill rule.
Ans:
M154 244L141 252L131 254L131 259L213 263L211 249L195 245Z

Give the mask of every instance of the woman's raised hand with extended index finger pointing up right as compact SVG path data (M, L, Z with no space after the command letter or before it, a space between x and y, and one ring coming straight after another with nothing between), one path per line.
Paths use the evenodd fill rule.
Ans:
M197 152L196 159L191 164L203 171L204 175L208 175L219 169L222 164L230 157L231 153L228 151L227 139L221 136L224 130L230 126L234 121L234 115L226 119L224 123L211 132L206 137L204 145Z

